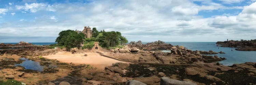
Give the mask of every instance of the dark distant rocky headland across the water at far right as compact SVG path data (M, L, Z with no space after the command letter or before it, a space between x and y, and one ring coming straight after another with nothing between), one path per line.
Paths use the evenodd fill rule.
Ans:
M241 41L218 41L216 42L221 47L237 48L239 51L256 51L256 39L254 40L241 40Z

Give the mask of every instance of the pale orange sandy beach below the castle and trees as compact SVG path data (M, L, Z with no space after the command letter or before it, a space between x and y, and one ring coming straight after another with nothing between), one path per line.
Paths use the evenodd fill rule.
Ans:
M87 56L84 56L87 54ZM71 52L58 52L53 55L43 56L47 59L58 60L62 63L74 63L74 64L89 64L97 68L104 68L106 66L111 66L114 63L127 63L122 61L117 61L108 57L101 56L98 53L88 52L71 54Z

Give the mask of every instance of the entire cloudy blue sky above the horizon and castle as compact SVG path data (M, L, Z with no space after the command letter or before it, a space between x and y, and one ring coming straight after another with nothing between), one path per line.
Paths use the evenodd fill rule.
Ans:
M0 43L55 42L85 26L128 41L256 39L256 0L0 0Z

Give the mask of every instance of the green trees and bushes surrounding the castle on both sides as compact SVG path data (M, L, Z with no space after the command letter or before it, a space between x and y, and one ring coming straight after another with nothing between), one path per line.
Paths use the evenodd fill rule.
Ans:
M82 49L91 49L95 41L98 41L99 45L104 48L122 48L122 44L128 43L128 40L120 32L105 32L104 30L99 32L96 28L93 28L92 33L91 38L85 38L83 33L77 33L72 30L61 31L55 41L57 44L49 45L48 48L74 48L84 44Z

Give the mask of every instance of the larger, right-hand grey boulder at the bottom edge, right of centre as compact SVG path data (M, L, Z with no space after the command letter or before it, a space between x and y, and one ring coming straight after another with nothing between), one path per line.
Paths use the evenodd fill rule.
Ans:
M179 81L174 79L169 79L167 77L162 77L160 85L197 85L189 81Z

